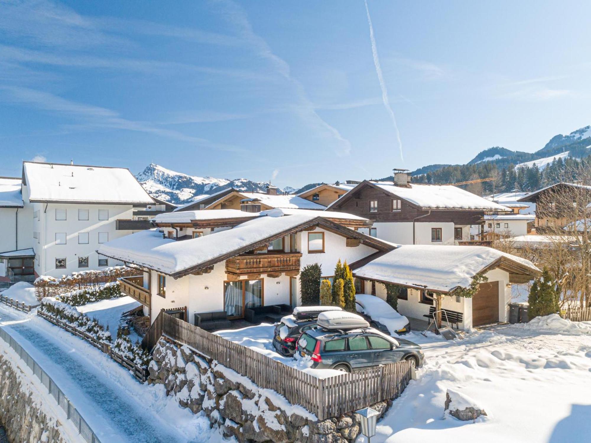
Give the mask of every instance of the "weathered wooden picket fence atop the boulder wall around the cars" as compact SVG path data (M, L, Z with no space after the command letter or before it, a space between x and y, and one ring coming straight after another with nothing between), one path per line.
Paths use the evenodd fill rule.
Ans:
M301 405L318 419L336 417L401 395L411 379L409 361L385 364L352 373L319 379L251 348L211 334L165 312L160 312L149 331L146 345L157 333L186 344L204 357L248 377L259 387L275 390L290 403ZM145 340L144 338L144 340ZM149 342L149 343L148 343ZM148 350L151 348L148 347Z

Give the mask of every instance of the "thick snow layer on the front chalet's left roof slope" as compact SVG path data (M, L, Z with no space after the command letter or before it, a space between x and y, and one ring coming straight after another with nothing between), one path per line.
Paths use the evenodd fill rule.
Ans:
M171 275L215 260L315 218L307 215L255 217L233 229L182 241L163 239L162 233L146 230L102 243L98 252Z

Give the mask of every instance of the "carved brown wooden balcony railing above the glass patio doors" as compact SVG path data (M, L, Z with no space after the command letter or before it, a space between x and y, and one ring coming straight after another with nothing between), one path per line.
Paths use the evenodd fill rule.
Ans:
M243 275L300 270L301 252L238 255L226 260L226 272Z

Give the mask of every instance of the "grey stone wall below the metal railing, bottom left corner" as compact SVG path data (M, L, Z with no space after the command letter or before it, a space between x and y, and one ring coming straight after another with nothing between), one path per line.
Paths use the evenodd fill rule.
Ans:
M10 361L0 356L0 423L13 443L62 443L59 422L41 411Z

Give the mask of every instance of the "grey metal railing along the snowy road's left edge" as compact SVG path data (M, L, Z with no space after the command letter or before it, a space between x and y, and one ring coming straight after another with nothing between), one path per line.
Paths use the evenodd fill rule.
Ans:
M14 338L12 338L11 335L2 328L0 328L0 338L8 343L12 349L14 349L21 359L27 363L27 366L31 368L33 374L35 374L41 383L47 387L47 391L53 396L54 399L56 399L56 402L61 406L61 409L66 412L67 418L73 423L80 435L82 435L84 441L87 443L100 443L99 438L96 437L95 432L90 429L90 426L86 423L86 420L82 417L82 415L80 415L80 412L77 411L76 406L70 402L59 386L56 385L56 382L54 382L47 372L45 372L43 368L39 366L37 361L35 361L33 357L31 357L29 353L17 343L17 341L14 340Z

